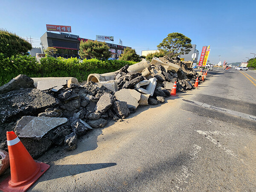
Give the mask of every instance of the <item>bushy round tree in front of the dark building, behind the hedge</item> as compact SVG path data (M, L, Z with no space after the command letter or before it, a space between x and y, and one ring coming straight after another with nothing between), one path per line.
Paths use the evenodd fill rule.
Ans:
M96 58L99 60L108 59L111 56L109 47L105 42L101 41L81 41L79 55L82 59Z

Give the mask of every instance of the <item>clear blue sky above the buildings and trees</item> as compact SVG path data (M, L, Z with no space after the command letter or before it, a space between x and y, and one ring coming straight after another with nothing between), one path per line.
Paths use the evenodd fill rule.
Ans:
M255 0L1 0L0 28L38 45L46 24L67 25L81 38L120 38L138 54L180 32L200 53L210 45L211 62L232 63L256 53L255 8Z

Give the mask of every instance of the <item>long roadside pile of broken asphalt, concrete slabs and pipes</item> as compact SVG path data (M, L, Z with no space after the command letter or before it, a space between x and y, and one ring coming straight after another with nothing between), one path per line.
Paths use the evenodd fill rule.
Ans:
M0 87L0 149L7 150L6 131L14 130L32 157L52 145L77 147L78 137L108 120L122 120L139 105L157 105L177 91L193 88L198 73L179 58L153 58L151 63L76 78L29 78L19 75Z

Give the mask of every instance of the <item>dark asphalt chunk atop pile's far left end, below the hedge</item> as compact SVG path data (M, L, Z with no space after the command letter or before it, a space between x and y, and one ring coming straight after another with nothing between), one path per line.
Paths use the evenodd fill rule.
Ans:
M19 90L22 88L34 88L33 79L26 75L18 75L8 83L0 87L0 94L8 93L12 90Z

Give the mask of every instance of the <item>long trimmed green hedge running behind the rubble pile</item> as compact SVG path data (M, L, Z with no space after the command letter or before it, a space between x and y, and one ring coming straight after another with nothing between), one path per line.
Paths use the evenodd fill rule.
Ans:
M79 82L86 81L90 73L108 73L119 70L134 61L118 60L79 60L78 58L41 58L40 63L35 57L14 55L5 58L0 53L0 86L6 84L19 74L29 77L76 77Z

